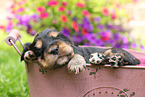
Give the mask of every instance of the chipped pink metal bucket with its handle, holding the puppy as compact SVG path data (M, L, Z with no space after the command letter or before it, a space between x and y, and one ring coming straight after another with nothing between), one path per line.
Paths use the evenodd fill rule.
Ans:
M14 43L19 39L19 35L14 35L16 31L12 31L6 39L6 42L15 48ZM10 36L14 39L9 38ZM21 55L18 48L16 50ZM122 66L119 69L112 69L110 65L97 67L87 64L86 70L77 75L68 73L66 66L42 74L39 72L40 66L37 63L27 64L30 96L145 97L145 53L127 51L139 58L141 64Z

